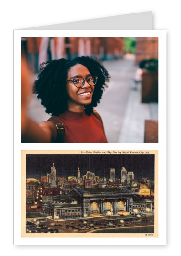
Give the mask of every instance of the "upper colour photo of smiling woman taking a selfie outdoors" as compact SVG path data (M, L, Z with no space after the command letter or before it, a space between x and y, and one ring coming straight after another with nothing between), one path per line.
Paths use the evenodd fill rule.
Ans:
M158 37L21 37L21 142L158 143Z

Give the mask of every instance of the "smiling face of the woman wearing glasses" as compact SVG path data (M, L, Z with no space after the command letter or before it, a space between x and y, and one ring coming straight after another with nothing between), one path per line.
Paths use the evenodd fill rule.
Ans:
M75 66L70 68L67 80L75 77L82 77L86 79L90 75L92 74L90 74L87 67L81 64L76 64ZM68 94L68 109L76 112L76 110L78 109L82 110L84 108L84 105L88 105L91 103L94 86L90 86L89 83L85 80L84 85L77 88L74 85L73 81L67 81L66 90Z

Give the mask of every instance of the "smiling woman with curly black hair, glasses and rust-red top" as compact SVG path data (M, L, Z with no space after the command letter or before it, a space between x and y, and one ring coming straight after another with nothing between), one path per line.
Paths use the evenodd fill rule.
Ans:
M90 57L78 57L47 61L40 71L33 93L52 117L39 123L46 136L37 142L107 142L101 117L93 109L109 81L107 70Z

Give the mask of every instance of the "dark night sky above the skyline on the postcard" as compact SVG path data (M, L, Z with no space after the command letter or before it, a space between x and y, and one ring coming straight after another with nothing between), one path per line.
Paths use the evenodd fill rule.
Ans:
M121 178L121 169L125 167L127 172L134 172L135 179L147 178L154 180L154 155L96 155L96 154L42 154L26 155L26 178L36 178L51 173L51 166L55 164L56 176L76 176L78 167L80 175L86 175L87 171L95 173L101 178L109 178L110 168L115 168L116 178Z

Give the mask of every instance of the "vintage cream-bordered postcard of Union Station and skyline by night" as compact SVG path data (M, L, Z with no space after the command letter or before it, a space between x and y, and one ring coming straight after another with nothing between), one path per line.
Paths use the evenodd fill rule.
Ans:
M22 237L158 237L158 152L22 151Z

